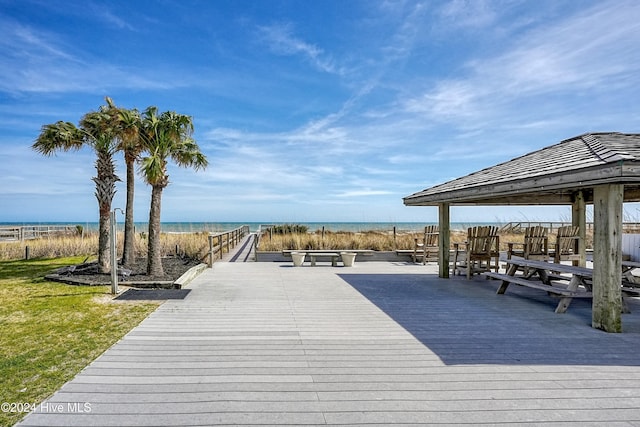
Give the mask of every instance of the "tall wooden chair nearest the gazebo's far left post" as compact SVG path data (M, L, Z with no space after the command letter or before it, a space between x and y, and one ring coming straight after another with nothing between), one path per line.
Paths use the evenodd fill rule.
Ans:
M453 274L460 274L465 270L467 279L470 279L473 274L491 270L492 260L493 268L496 273L498 272L500 257L498 227L483 226L467 229L467 241L464 245L464 250L460 250L458 243L453 245Z

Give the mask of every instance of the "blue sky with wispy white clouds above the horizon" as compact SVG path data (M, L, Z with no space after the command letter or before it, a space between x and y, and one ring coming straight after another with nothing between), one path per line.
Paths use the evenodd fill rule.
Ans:
M640 131L639 17L635 0L0 0L0 221L97 221L92 152L31 144L105 96L193 117L210 166L170 169L163 221L434 221L402 197L586 132ZM150 190L136 191L145 221ZM124 196L119 183L113 206Z

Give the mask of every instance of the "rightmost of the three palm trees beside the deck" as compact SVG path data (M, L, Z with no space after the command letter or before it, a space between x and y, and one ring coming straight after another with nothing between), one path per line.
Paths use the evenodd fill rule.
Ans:
M160 211L162 191L169 185L167 159L178 166L204 169L208 162L198 144L191 138L193 121L190 116L166 111L158 116L157 107L147 108L142 117L143 144L146 157L141 160L141 173L151 185L149 209L149 241L147 274L163 276L160 246Z

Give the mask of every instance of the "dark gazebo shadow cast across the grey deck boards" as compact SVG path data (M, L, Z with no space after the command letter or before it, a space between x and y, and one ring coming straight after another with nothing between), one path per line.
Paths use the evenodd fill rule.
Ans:
M340 274L446 364L640 365L640 301L628 299L622 334L591 327L591 299L557 300L497 281L423 274Z

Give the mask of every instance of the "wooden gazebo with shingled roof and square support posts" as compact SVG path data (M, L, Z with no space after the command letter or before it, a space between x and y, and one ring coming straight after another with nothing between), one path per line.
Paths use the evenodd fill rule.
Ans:
M640 201L640 134L588 133L404 197L438 206L440 277L449 277L450 206L571 205L584 262L586 204L593 204L592 326L622 332L623 203Z

